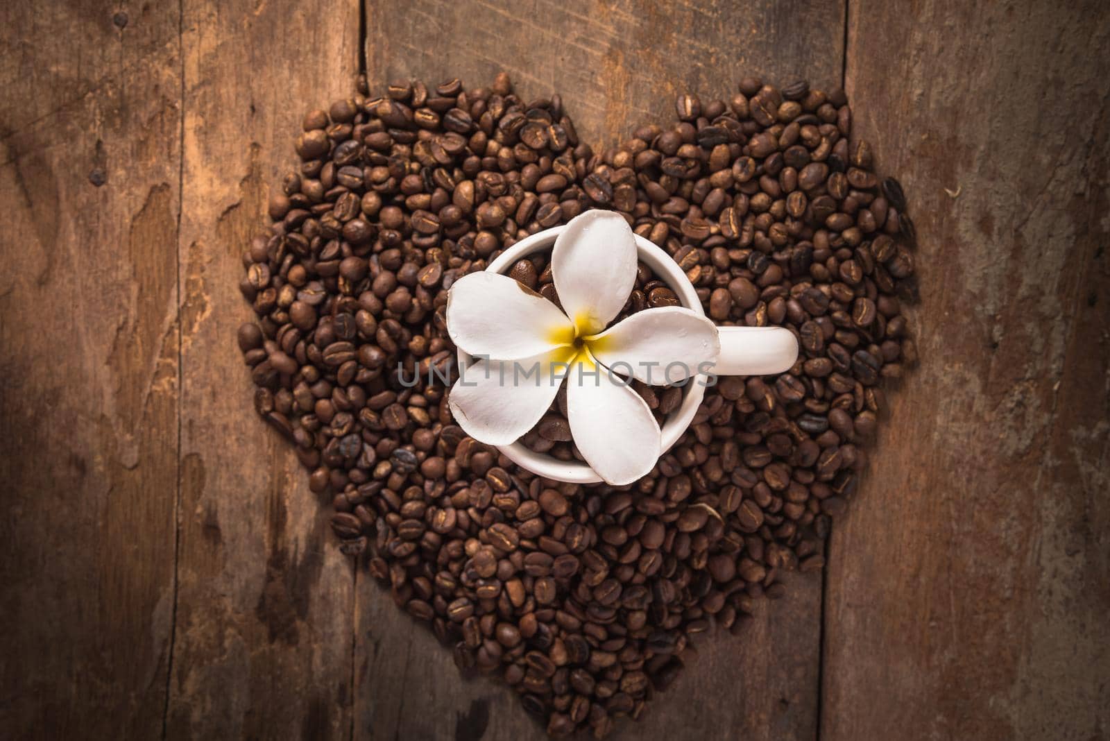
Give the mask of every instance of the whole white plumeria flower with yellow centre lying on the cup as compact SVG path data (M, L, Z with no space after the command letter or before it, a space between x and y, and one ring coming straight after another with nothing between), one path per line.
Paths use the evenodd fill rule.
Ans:
M480 272L455 282L447 332L481 358L448 397L467 435L488 445L515 441L546 414L566 380L571 435L597 475L625 485L652 470L663 453L659 425L626 377L685 382L717 359L720 343L713 322L678 306L638 312L606 329L635 286L636 262L624 217L587 211L567 224L552 251L565 313L505 275Z

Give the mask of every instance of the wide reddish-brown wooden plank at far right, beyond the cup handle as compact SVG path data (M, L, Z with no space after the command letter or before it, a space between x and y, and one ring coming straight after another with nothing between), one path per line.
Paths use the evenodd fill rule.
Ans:
M1110 733L1107 69L1106 3L850 6L921 366L834 534L823 739Z

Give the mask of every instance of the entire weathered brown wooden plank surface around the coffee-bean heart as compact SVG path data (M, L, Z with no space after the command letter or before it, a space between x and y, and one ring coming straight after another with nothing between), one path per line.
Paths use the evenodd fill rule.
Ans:
M616 738L1110 738L1104 2L69 0L0 39L3 738L543 738L339 552L232 338L302 113L500 69L595 142L844 84L919 233L921 362L825 573Z

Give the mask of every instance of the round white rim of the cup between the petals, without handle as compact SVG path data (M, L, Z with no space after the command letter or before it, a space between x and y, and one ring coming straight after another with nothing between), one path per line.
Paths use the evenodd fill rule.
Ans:
M566 229L565 224L553 226L524 237L502 252L486 266L486 270L492 273L504 274L522 257L544 250L551 250L555 244L555 238L562 234L564 229ZM702 301L697 297L697 291L682 268L678 267L678 263L654 242L648 241L639 234L634 234L633 236L636 238L637 258L655 271L655 274L678 295L678 300L684 307L705 316L705 309L702 308ZM463 372L474 358L460 347L457 348L457 359L460 372ZM707 378L707 374L699 373L686 383L683 390L682 404L663 423L660 457L678 441L678 438L683 436L683 433L686 432L694 420L694 415L697 414L698 406L700 406L702 399L705 397ZM569 484L598 484L603 480L584 461L559 460L545 453L536 453L521 441L498 445L496 447L509 460L522 468L526 468L536 476L556 481L567 481Z

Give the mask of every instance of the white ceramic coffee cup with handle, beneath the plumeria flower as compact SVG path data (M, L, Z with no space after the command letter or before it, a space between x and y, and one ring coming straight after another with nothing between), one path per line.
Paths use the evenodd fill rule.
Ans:
M554 226L521 240L501 253L486 270L494 273L507 273L518 260L536 252L549 251L555 246L555 237L564 229L566 227ZM678 263L648 240L638 234L635 237L636 256L639 262L650 267L678 295L683 306L705 316L694 284L678 267ZM783 327L717 327L717 334L720 338L720 355L713 367L713 373L716 376L781 373L794 365L797 358L798 341L789 329ZM758 343L751 342L754 334L759 335ZM790 362L785 366L781 361L784 349L790 349L791 353L789 355ZM465 369L472 362L473 358L460 348L458 367ZM694 415L697 414L697 408L702 404L702 398L705 396L707 378L707 374L703 373L683 386L683 403L670 413L662 427L663 453L670 449L670 446L683 436L693 422ZM585 463L559 460L544 453L536 453L521 441L501 445L497 446L497 449L513 463L537 476L572 484L597 484L602 480L602 477Z

